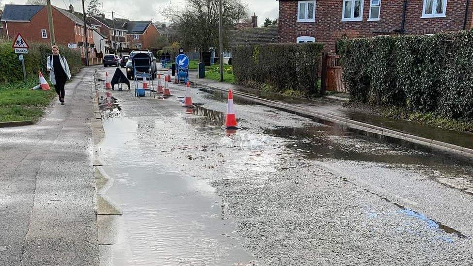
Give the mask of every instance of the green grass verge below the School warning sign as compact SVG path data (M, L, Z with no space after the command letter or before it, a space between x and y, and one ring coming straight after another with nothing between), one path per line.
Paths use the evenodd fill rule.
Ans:
M38 78L0 84L0 122L38 121L43 116L56 93L52 88L50 91L30 91L36 85Z

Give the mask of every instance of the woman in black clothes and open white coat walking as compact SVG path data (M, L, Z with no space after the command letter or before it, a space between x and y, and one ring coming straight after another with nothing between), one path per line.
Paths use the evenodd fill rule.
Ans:
M71 80L71 72L67 60L59 54L59 47L51 47L52 55L47 57L47 71L49 71L49 80L54 85L59 101L64 104L64 85L66 80Z

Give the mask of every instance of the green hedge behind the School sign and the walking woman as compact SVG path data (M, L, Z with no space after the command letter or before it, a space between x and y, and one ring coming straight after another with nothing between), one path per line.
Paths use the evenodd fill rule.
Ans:
M82 61L80 52L65 46L59 46L59 51L67 59L71 74L80 71ZM38 70L47 75L46 58L51 54L50 46L41 43L30 44L28 54L24 55L27 77L37 77ZM18 55L14 53L10 42L0 42L0 83L11 83L23 80L23 70Z

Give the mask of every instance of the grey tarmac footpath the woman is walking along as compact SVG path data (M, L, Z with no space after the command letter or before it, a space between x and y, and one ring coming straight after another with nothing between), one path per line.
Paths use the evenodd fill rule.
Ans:
M0 265L99 264L93 74L83 68L39 123L0 128Z

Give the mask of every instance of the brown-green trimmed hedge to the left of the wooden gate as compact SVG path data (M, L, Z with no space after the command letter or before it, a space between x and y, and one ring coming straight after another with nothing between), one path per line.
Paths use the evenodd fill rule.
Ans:
M322 49L314 43L238 46L232 59L235 81L315 94Z

